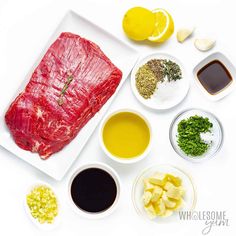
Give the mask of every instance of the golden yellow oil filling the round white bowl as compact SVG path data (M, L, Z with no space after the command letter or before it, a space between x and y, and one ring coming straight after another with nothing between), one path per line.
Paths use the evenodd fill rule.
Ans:
M140 116L132 112L120 112L106 122L103 142L112 155L135 158L146 150L150 142L150 130Z

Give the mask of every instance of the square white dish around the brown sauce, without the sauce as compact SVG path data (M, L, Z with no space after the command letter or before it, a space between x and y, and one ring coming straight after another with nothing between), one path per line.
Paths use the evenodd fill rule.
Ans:
M220 91L219 93L212 95L212 94L208 93L207 90L202 86L201 82L199 81L199 79L197 77L197 73L201 68L203 68L205 65L207 65L208 63L210 63L211 61L214 61L214 60L218 60L225 65L225 67L227 68L227 70L229 71L229 73L232 76L232 82L228 86L226 86L222 91ZM194 75L196 84L199 87L199 89L202 91L202 93L208 99L210 99L212 101L218 101L218 100L222 99L226 95L230 94L235 89L235 86L236 86L236 81L235 81L236 69L235 69L234 65L231 63L231 61L224 54L222 54L220 52L212 53L209 56L207 56L206 58L204 58L202 61L200 61L193 69L193 75Z

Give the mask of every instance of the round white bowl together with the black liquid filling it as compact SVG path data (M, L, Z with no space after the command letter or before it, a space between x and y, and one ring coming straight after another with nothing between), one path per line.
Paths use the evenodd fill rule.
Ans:
M105 164L90 164L72 176L69 195L77 212L89 218L110 213L119 197L118 176Z

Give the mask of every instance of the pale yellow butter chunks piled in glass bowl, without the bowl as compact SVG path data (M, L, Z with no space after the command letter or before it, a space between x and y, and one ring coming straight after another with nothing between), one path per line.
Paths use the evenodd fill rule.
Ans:
M143 182L143 204L150 218L168 217L182 207L185 190L179 177L157 172Z

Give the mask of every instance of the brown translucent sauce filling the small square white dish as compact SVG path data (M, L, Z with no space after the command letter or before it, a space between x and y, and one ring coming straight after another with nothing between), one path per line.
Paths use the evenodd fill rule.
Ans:
M211 61L197 73L198 80L208 93L215 95L232 82L232 76L218 60Z

